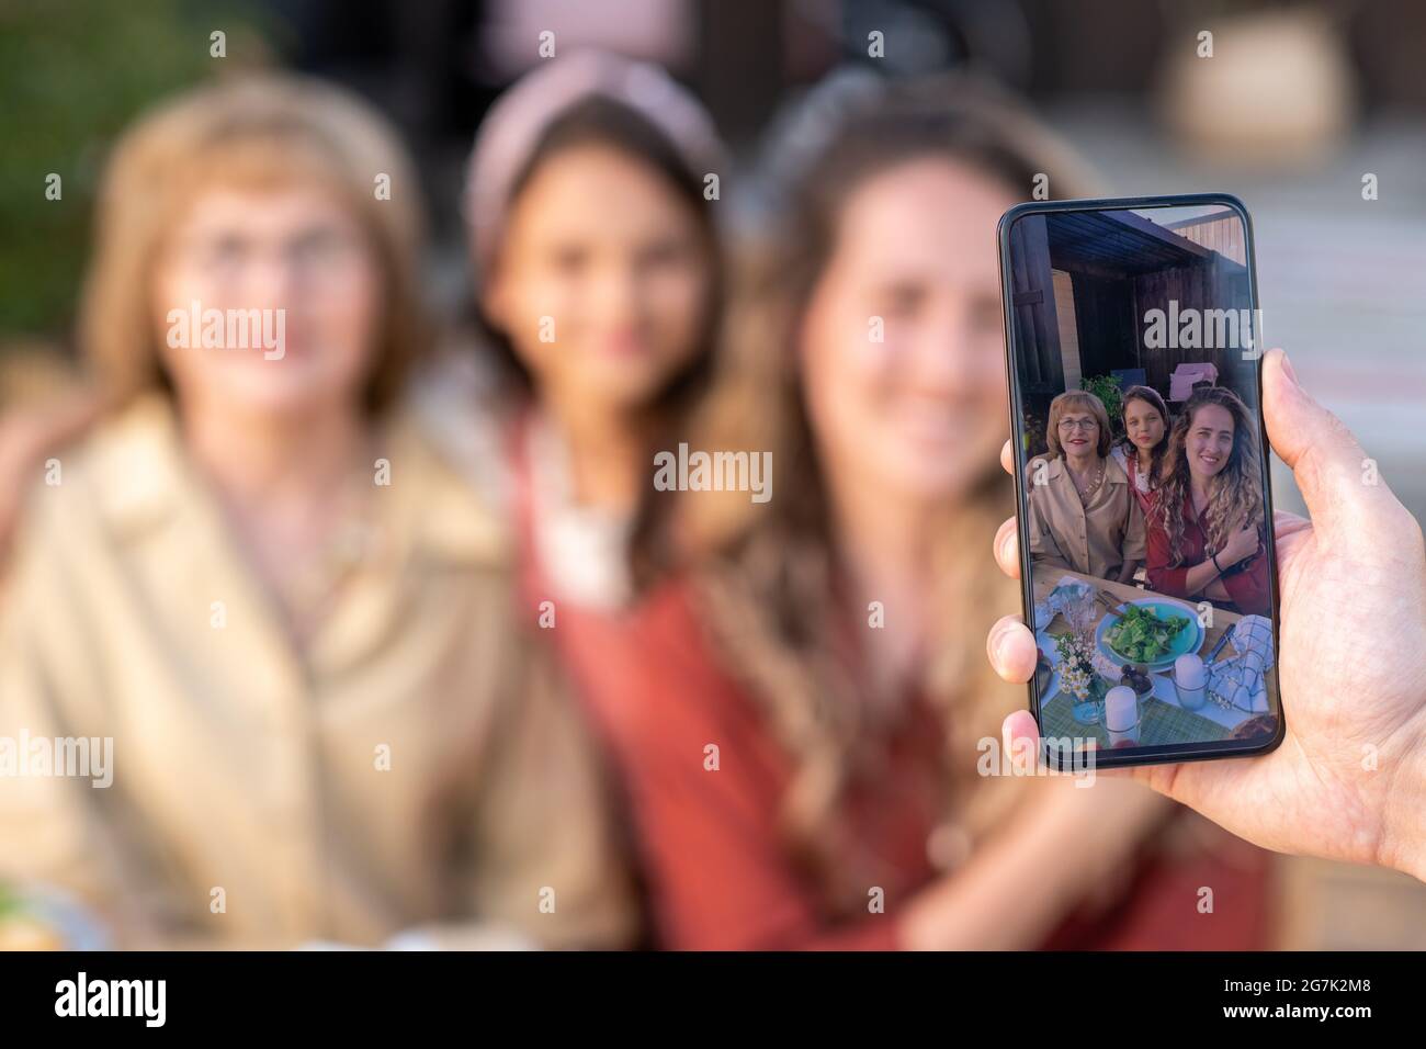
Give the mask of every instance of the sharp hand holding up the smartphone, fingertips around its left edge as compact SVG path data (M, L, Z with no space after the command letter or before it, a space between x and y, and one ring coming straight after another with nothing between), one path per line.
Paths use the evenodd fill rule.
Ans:
M1262 410L1310 521L1275 520L1286 738L1269 754L1149 765L1132 776L1278 852L1395 868L1426 881L1426 544L1385 482L1363 480L1352 432L1298 384L1281 350L1262 368ZM1011 468L1010 445L1001 455ZM995 559L1020 575L1015 521ZM987 638L1002 678L1025 682L1035 639L1015 617ZM1028 711L1007 746L1038 742Z

